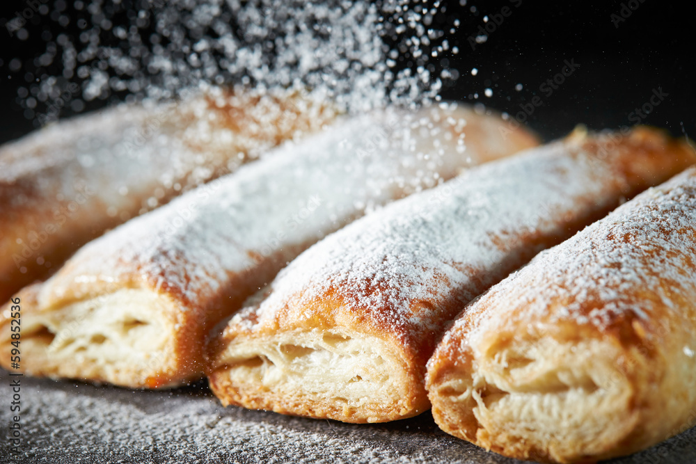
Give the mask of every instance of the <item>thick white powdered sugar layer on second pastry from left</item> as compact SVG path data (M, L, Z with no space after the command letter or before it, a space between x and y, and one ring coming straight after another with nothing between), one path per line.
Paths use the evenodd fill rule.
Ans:
M277 253L291 259L364 211L455 175L467 162L459 139L443 134L457 114L379 111L286 145L88 244L42 294L140 275L136 285L164 285L203 304L231 275Z

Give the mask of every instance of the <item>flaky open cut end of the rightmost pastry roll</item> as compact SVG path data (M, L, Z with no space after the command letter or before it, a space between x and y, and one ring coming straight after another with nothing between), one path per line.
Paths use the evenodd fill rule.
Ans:
M459 362L441 351L431 359L427 389L447 433L541 462L594 462L645 445L636 440L639 395L612 342L499 339Z

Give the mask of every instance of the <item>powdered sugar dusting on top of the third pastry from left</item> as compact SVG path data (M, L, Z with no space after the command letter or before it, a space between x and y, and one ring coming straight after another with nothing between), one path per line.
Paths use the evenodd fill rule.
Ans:
M285 310L288 323L301 323L315 298L335 291L356 318L409 343L432 339L454 316L444 308L458 311L511 262L522 264L538 246L530 237L567 234L561 218L601 211L621 195L612 169L569 150L558 142L480 166L345 227L281 271L232 327L263 326Z

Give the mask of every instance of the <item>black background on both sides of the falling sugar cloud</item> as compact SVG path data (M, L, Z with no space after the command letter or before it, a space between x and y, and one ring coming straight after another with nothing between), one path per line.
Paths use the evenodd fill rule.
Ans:
M15 10L25 7L24 3L3 0L0 22L4 24L13 17ZM72 2L67 3L70 8ZM445 13L436 17L434 26L449 29L454 19L461 22L456 37L450 37L450 46L459 47L459 54L445 54L432 61L439 66L439 59L447 58L450 67L461 72L457 81L445 87L443 97L483 102L515 115L521 105L539 95L544 103L535 108L527 122L542 136L555 138L578 123L592 129L633 125L631 112L649 102L654 89L662 88L667 97L643 122L665 127L674 135L696 137L693 8L684 10L676 2L658 0L443 4ZM637 8L631 10L629 5ZM469 37L475 37L479 26L485 26L484 15L492 21L503 6L512 13L496 25L486 42L472 50ZM622 8L624 15L628 11L631 15L617 27L612 14L621 17ZM38 31L57 27L40 18L29 26ZM70 26L66 29L69 31ZM22 41L11 38L4 28L0 30L0 141L17 138L35 127L17 103L17 86L23 83L23 74L8 69L12 58L33 58L44 51L40 33L32 32L29 40ZM560 72L564 60L573 60L580 67L553 95L544 95L539 86ZM476 76L470 74L473 67L478 70ZM518 83L523 90L515 89ZM493 90L492 97L484 96L485 88ZM473 99L474 93L479 95L477 100ZM109 102L94 102L88 109Z

